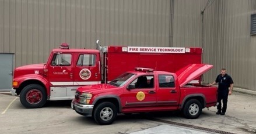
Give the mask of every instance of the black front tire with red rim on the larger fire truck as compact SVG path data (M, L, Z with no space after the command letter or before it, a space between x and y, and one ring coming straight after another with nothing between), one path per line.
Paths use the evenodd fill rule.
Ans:
M25 86L20 92L20 102L26 108L43 107L47 101L47 95L43 86L30 84Z

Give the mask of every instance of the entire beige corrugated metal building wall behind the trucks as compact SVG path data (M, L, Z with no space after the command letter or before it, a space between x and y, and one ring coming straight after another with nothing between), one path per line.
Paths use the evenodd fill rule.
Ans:
M256 90L253 13L255 0L0 0L0 53L15 53L21 66L46 61L61 42L202 47L204 63L215 66L204 82L225 67L235 86Z

